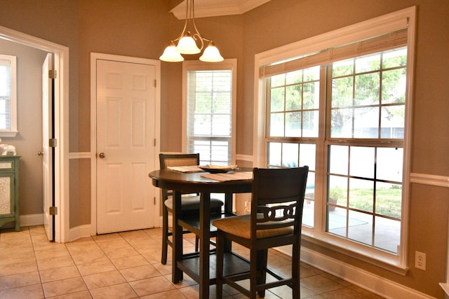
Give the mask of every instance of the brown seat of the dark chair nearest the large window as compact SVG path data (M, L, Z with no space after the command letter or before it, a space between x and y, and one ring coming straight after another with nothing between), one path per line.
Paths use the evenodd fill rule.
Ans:
M251 238L250 214L218 219L213 221L212 224L219 230L222 230L229 234L243 237L245 239ZM272 230L257 230L256 237L257 239L264 239L269 237L290 235L291 233L293 233L293 226L288 226L287 228L276 228Z

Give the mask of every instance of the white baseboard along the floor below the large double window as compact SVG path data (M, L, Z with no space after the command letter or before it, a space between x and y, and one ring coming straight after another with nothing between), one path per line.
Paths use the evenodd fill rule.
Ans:
M291 256L291 246L282 246L276 249ZM301 261L384 298L434 298L358 267L342 263L340 260L330 258L304 246L301 247Z

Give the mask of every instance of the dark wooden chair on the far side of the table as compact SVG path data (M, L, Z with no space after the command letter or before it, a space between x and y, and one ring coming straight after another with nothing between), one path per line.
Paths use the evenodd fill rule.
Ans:
M173 166L192 166L199 165L199 153L187 153L187 154L159 154L159 163L161 169ZM168 246L173 247L172 242L168 237L173 233L168 229L168 213L173 211L173 193L171 190L162 189L162 255L161 263L165 265L167 263L167 251ZM181 211L183 214L194 216L199 218L199 195L183 195L181 199ZM210 212L220 213L222 210L223 202L216 198L210 198ZM183 233L189 232L183 230ZM195 251L198 251L199 238L195 240Z

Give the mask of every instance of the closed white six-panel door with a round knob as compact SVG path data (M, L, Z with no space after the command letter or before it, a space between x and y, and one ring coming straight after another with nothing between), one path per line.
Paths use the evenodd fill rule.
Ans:
M97 232L152 228L155 67L96 63Z

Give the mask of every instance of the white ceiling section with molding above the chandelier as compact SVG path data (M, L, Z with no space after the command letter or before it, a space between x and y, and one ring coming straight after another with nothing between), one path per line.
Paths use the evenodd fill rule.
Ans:
M240 15L261 6L270 0L195 0L195 18L216 17L219 15ZM185 19L187 0L182 1L173 8L173 13L178 20Z

